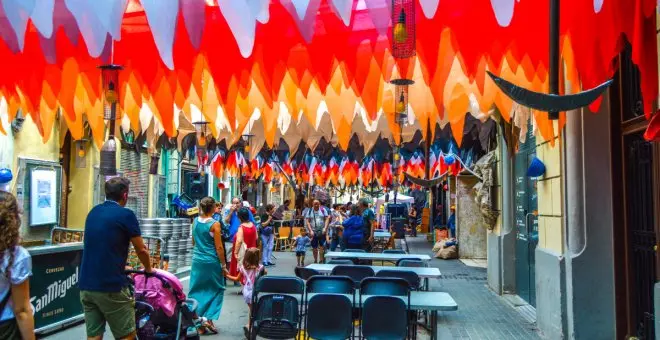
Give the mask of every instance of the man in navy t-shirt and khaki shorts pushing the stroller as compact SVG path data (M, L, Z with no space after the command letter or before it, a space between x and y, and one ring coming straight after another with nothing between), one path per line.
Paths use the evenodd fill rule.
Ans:
M124 272L129 243L151 273L149 250L133 211L125 208L130 181L114 177L105 182L106 201L87 214L80 301L88 339L101 339L106 322L115 338L135 339L135 302Z

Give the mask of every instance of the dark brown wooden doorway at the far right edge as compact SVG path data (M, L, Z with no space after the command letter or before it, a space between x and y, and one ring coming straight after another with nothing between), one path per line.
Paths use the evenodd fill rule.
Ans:
M628 47L612 92L612 169L617 338L655 339L654 284L660 229L660 146L644 139L639 71Z

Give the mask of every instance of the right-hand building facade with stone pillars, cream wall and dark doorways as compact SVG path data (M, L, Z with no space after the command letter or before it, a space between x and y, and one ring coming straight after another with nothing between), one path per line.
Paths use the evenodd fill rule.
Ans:
M629 56L599 112L567 112L554 145L530 132L515 154L500 148L488 284L527 304L548 339L657 334L660 147L643 139L648 121ZM534 157L546 167L538 178L526 175Z

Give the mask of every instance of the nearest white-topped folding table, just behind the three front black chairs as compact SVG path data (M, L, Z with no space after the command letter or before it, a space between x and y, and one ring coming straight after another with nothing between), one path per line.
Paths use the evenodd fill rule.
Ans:
M263 294L268 294L268 292L263 292ZM318 295L318 294L324 294L324 293L309 293L307 294L307 300L311 299L313 296ZM295 294L285 294L285 295L290 295L295 297L296 299L300 298L300 295L295 295ZM355 298L356 300L353 301L353 295L351 294L341 294L353 302L353 307L360 307L360 303L358 300L360 293L359 291L355 292ZM371 295L363 295L362 296L362 303L366 301ZM393 296L400 298L403 300L405 303L408 303L408 298L406 296ZM458 310L458 304L456 301L454 301L454 298L451 297L448 293L444 292L420 292L420 291L412 291L410 292L410 309L411 310L417 310L417 311L429 311L431 312L431 339L432 340L437 340L438 339L438 311L443 311L443 312L453 312Z

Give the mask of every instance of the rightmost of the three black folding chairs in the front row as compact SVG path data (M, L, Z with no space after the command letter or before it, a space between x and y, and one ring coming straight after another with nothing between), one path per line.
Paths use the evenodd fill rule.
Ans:
M404 319L405 320L405 331L403 332L403 336L399 336L400 333L397 333L398 328L393 328L391 330L388 330L386 332L383 332L382 330L376 330L375 325L370 324L367 326L365 329L365 311L364 311L364 306L362 305L362 299L363 296L368 295L371 297L374 296L383 296L383 297L390 297L394 299L398 299L401 301L401 303L404 305L404 313L403 315L401 314L395 314L397 315L398 318ZM370 298L371 298L370 297ZM399 298L397 298L399 297ZM404 302L401 300L400 297L404 297L406 299ZM366 301L365 301L366 302ZM383 302L385 303L385 302ZM394 309L394 312L396 313L396 305L399 305L398 303L391 302L390 304L393 304L392 308ZM381 306L382 307L382 306ZM412 331L412 327L410 327L410 286L408 282L404 279L401 278L393 278L393 277L370 277L370 278L365 278L362 280L360 283L360 308L363 309L362 311L362 328L360 332L360 336L363 334L363 331L366 331L370 335L367 335L366 333L364 336L367 339L374 338L374 339L404 339L406 336L405 334L407 333L410 338L413 336L410 334ZM387 316L388 313L390 313L390 310L387 309L389 307L386 307L386 309L383 309L380 314L373 314L373 311L370 311L367 313L367 317L370 317L372 321L376 322L376 324L380 323L381 325L384 325L384 323L390 322L390 317ZM402 317L403 316L403 317ZM396 322L395 322L396 323ZM373 327L372 327L373 326ZM388 327L384 327L388 328ZM374 333L376 332L376 333ZM375 336L375 334L380 334L381 336ZM392 334L390 336L386 336L387 334ZM396 335L396 336L395 336ZM384 338L382 336L385 336ZM392 337L394 336L394 337Z

